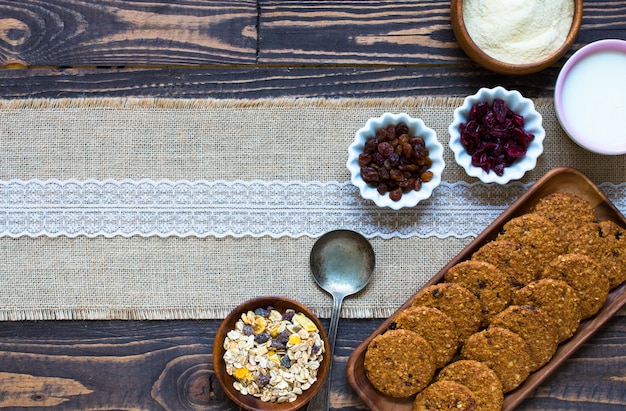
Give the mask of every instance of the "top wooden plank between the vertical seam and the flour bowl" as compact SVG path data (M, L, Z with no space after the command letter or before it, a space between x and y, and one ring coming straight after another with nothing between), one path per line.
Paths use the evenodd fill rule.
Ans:
M450 30L448 1L262 1L259 62L467 62Z

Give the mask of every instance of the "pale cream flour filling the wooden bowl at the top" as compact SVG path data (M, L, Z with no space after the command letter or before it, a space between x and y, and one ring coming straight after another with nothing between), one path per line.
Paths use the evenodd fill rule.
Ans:
M512 64L539 61L565 41L573 0L464 0L467 32L486 54Z

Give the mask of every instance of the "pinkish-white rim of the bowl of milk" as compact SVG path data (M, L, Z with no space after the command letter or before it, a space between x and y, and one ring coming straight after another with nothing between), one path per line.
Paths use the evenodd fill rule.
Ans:
M597 145L593 140L585 138L585 136L578 133L568 121L567 116L565 115L565 108L563 107L563 86L565 85L565 80L567 79L569 73L582 60L593 54L604 51L619 51L626 54L626 41L620 39L598 40L593 43L589 43L576 51L565 62L556 79L556 85L554 87L554 108L556 111L556 117L559 120L561 127L563 127L563 131L565 131L565 133L567 133L567 135L570 136L570 138L579 146L598 154L626 154L626 142L621 145L617 145L616 147L613 146L613 150L607 150L605 147Z

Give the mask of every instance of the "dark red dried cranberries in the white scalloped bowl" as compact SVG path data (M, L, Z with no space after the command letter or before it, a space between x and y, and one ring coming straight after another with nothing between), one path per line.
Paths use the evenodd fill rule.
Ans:
M461 123L459 130L472 165L499 176L505 167L526 155L535 138L524 129L524 116L511 111L502 99L474 104L469 120Z

